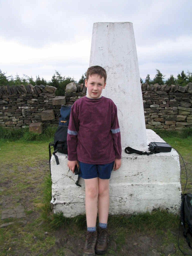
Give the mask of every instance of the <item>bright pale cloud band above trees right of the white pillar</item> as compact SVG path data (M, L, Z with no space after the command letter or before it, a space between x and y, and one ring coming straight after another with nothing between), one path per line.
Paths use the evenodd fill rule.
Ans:
M150 74L153 78L156 69L165 74L166 79L170 77L170 74L177 77L182 70L187 72L192 66L191 45L190 36L179 36L175 40L164 39L156 44L137 46L140 76L145 79L146 75Z

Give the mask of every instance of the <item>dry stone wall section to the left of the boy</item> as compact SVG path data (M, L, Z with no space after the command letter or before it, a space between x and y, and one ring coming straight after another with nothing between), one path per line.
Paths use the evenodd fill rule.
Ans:
M74 86L75 85L75 86ZM2 86L0 88L0 126L9 129L20 129L30 124L58 125L58 114L61 105L73 104L78 98L86 95L84 87L70 83L65 96L55 97L56 88L52 86ZM31 125L33 127L33 125ZM35 127L35 129L37 129Z

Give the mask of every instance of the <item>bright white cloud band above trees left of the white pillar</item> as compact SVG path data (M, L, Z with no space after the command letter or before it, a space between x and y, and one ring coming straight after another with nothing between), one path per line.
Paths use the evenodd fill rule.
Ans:
M0 38L0 44L2 49L7 49L1 53L0 67L8 75L15 76L18 73L19 76L26 74L35 78L39 74L40 77L51 80L57 70L63 76L79 80L89 66L91 40L84 39L71 44L52 43L35 48Z

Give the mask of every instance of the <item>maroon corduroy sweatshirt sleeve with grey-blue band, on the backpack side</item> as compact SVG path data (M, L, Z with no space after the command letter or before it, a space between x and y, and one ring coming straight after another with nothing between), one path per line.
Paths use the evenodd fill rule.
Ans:
M77 132L79 130L78 110L77 104L73 104L71 107L71 113L69 118L69 126L67 131L67 151L68 160L77 160Z

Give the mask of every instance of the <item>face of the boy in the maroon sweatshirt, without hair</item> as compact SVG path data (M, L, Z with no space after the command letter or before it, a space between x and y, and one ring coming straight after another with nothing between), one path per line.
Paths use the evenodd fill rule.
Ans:
M104 77L100 78L97 74L89 76L88 80L85 80L85 87L87 87L88 91L87 97L90 99L100 98L105 85Z

